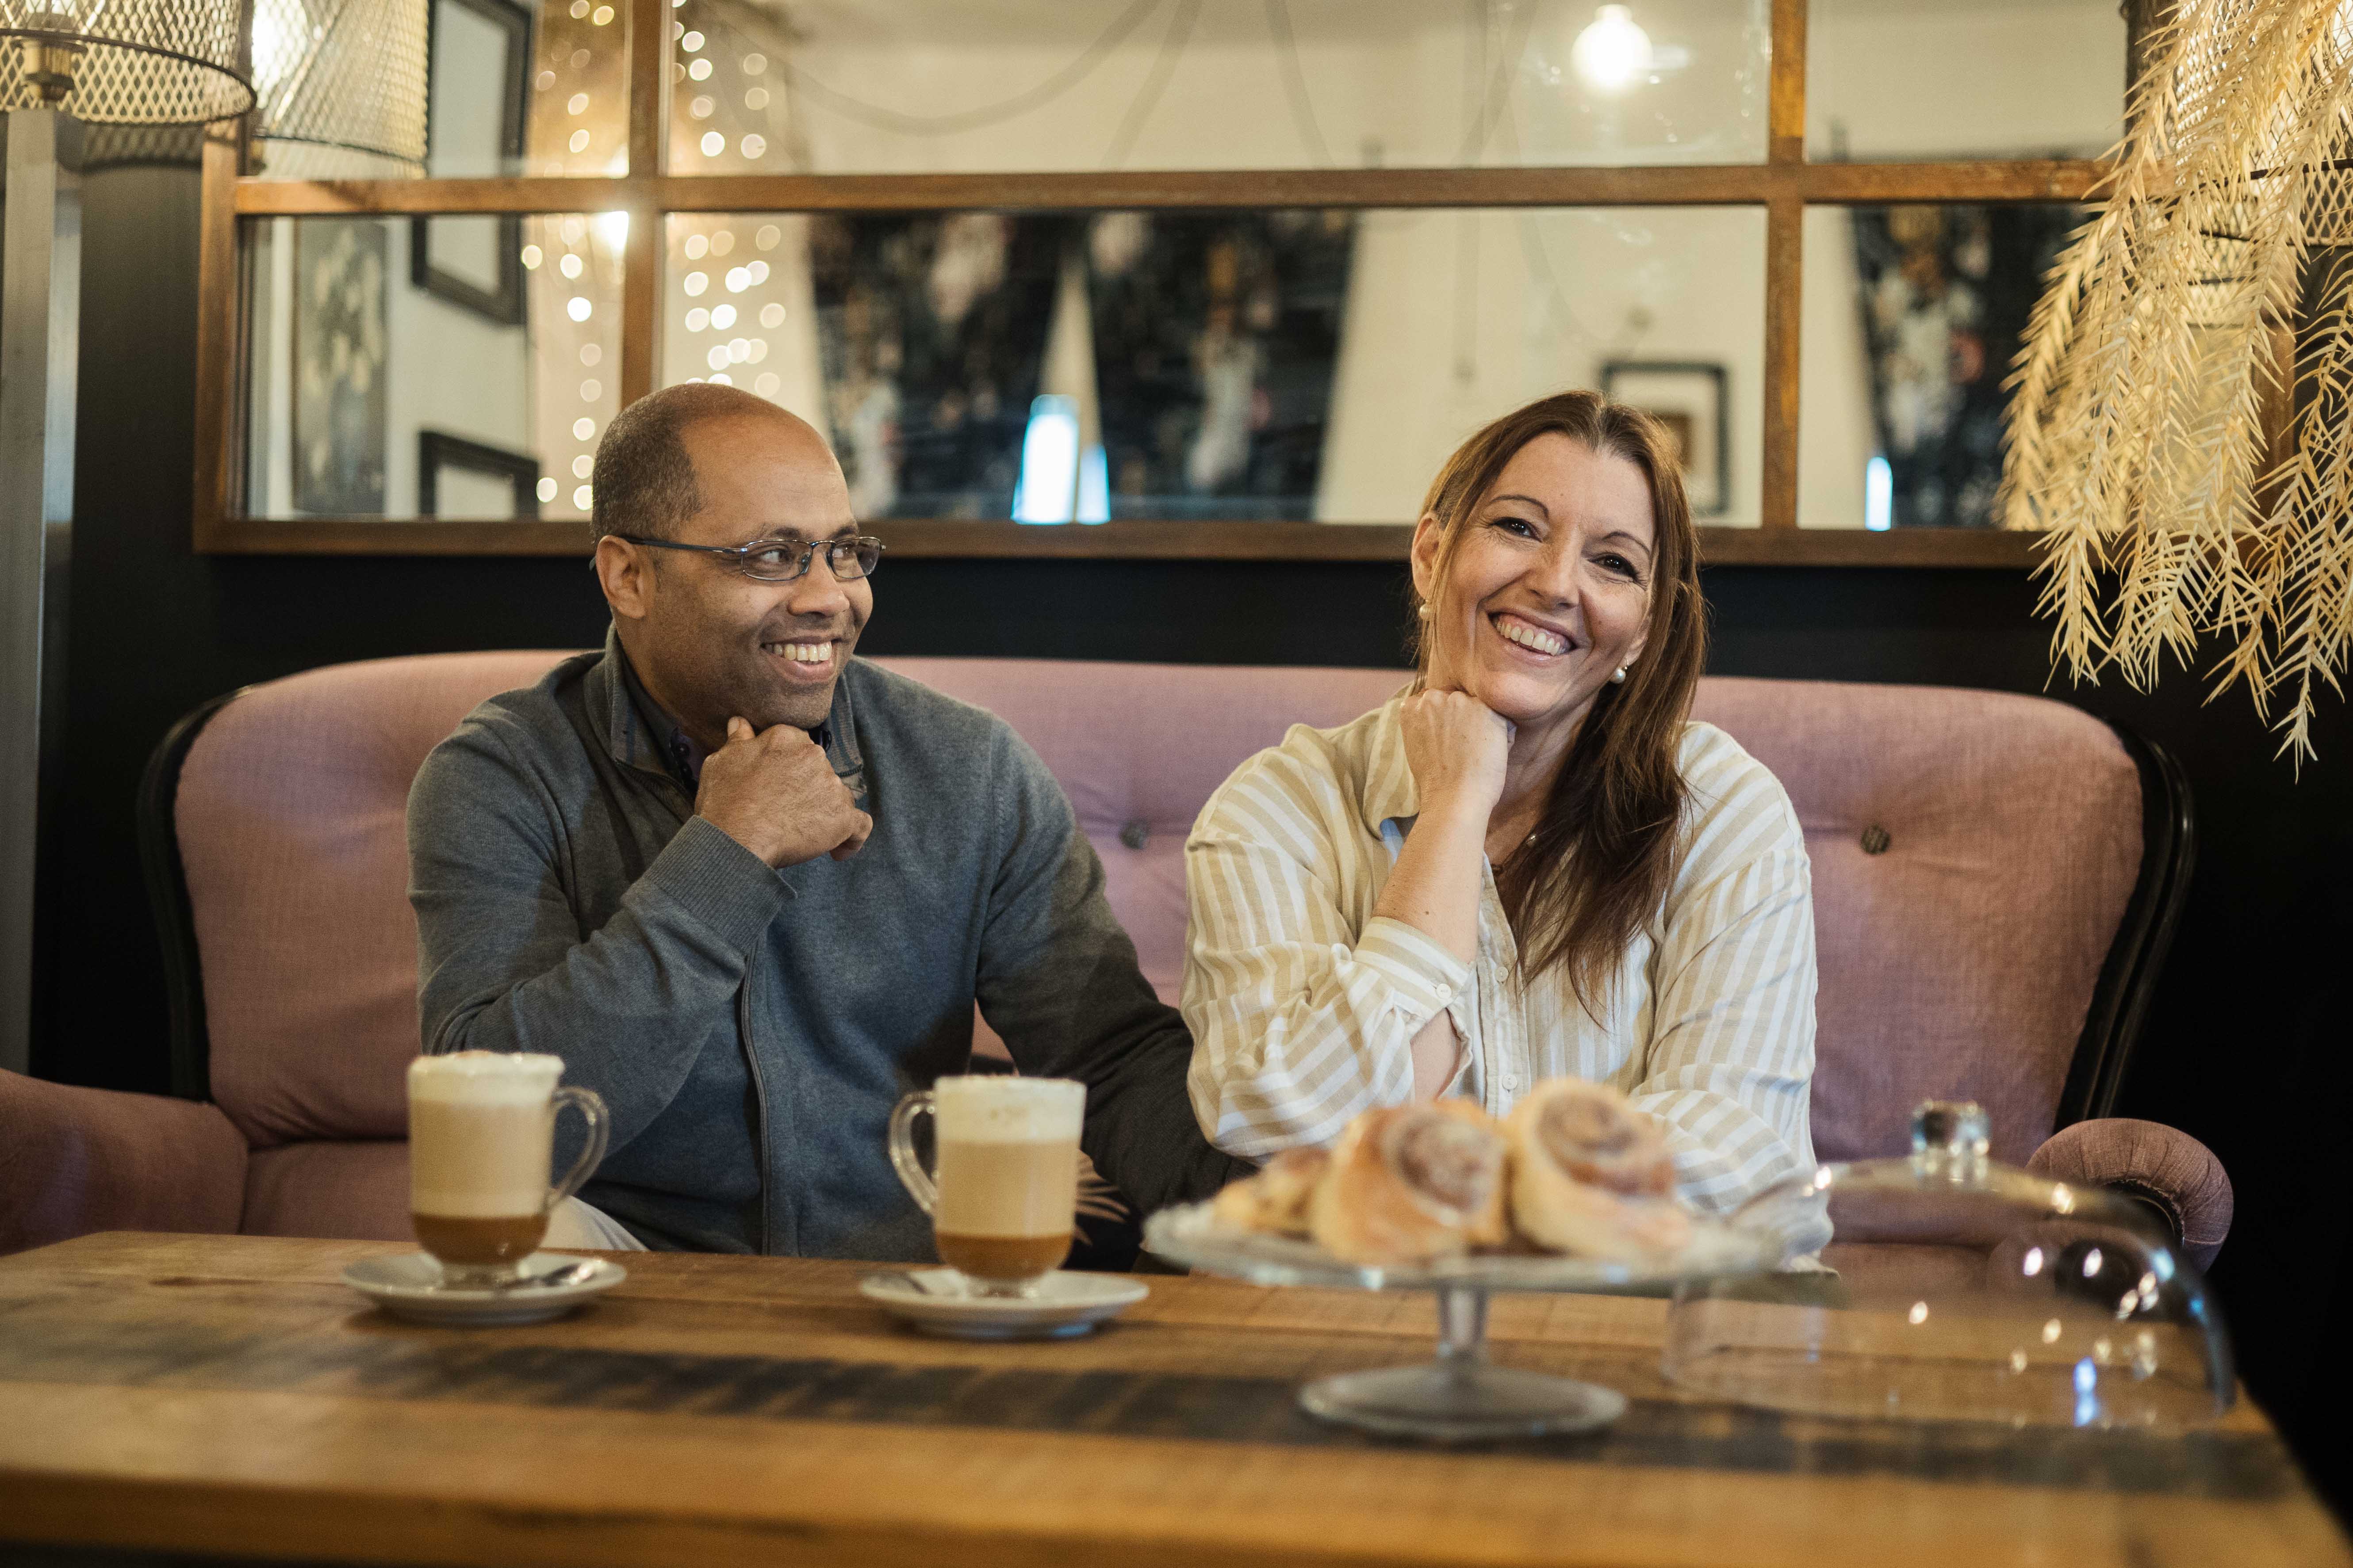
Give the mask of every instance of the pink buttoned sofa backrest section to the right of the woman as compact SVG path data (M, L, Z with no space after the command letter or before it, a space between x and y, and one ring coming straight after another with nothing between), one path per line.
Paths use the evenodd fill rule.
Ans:
M1706 679L1694 717L1788 790L1814 863L1814 1152L1911 1147L1979 1100L1993 1154L2049 1138L2141 870L2141 778L2099 719L1946 686Z

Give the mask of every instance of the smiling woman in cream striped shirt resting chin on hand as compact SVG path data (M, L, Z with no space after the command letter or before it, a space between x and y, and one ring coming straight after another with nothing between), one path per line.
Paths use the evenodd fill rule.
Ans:
M1685 719L1706 609L1666 430L1598 393L1494 421L1431 484L1412 574L1419 679L1292 729L1186 842L1202 1131L1266 1157L1574 1074L1666 1126L1699 1208L1812 1168L1805 837Z

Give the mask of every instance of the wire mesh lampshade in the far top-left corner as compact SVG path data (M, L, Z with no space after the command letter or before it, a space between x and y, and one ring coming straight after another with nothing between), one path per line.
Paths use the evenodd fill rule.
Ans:
M238 0L0 0L0 110L92 125L242 115Z

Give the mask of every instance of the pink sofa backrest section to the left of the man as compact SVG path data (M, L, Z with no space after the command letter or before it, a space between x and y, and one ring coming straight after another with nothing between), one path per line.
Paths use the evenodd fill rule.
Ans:
M212 1098L254 1147L407 1133L416 1056L409 780L482 698L565 654L308 670L214 715L174 816L205 976Z

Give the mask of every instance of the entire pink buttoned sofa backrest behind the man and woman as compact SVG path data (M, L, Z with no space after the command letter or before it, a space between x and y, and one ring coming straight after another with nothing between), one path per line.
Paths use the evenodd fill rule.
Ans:
M256 686L198 736L174 804L202 957L212 1093L259 1147L398 1138L416 1053L405 802L485 696L562 654L442 654ZM1184 835L1242 757L1341 724L1398 670L878 661L1005 717L1068 790L1144 973L1176 997ZM1814 860L1814 1145L1901 1147L1925 1095L1977 1098L2024 1161L2139 872L2139 776L2042 698L1701 682L1788 788Z

